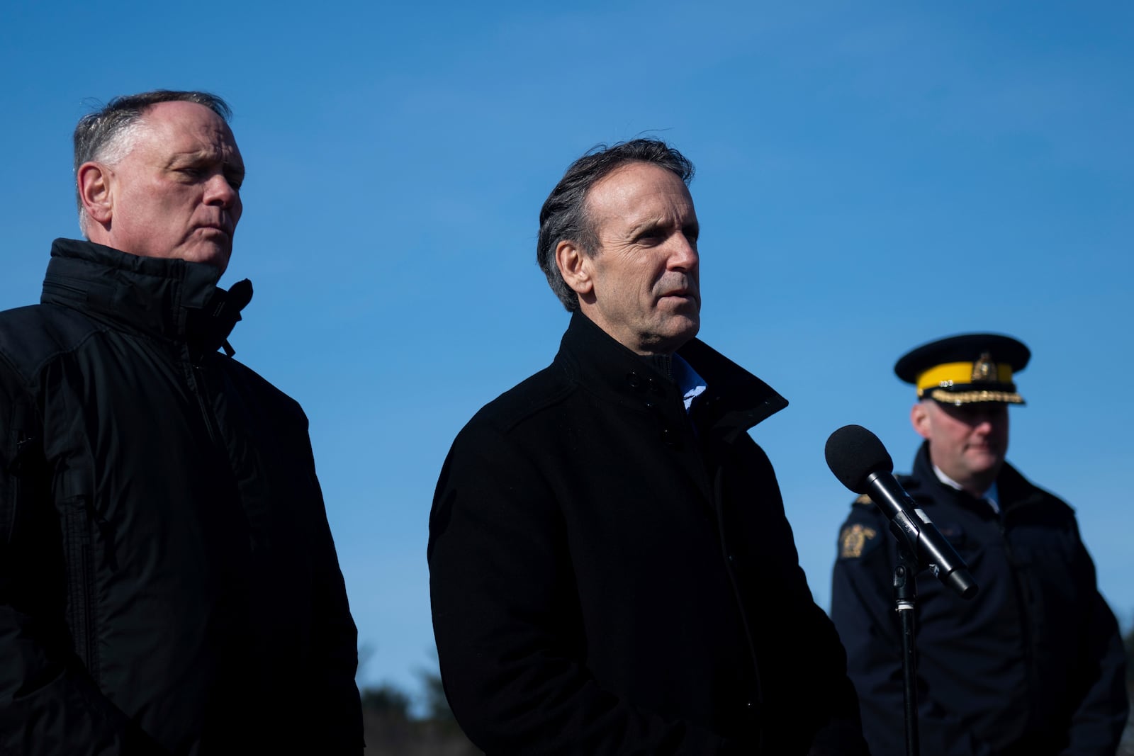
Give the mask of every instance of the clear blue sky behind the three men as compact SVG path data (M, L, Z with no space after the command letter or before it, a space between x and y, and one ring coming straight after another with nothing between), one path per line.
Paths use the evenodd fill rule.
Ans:
M256 287L232 343L311 417L363 683L433 664L441 461L566 326L534 262L543 198L642 134L697 165L701 337L792 402L753 435L820 605L852 499L827 436L865 425L908 467L894 360L996 330L1034 352L1009 459L1076 507L1129 623L1128 2L9 0L0 71L0 307L36 300L51 239L78 233L91 103L231 102L248 178L225 280Z

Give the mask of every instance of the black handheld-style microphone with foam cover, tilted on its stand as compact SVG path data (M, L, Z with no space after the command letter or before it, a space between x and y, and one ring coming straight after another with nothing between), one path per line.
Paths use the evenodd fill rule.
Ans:
M878 436L861 425L845 425L827 440L827 466L839 483L865 493L890 520L890 530L920 564L963 598L976 595L965 560L945 540L894 477L894 460Z

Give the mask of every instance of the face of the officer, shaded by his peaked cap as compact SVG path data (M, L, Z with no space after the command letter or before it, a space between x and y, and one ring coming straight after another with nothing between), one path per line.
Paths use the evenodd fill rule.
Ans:
M1008 406L941 405L926 399L911 413L914 430L929 441L929 456L950 478L976 493L996 479L1008 452Z

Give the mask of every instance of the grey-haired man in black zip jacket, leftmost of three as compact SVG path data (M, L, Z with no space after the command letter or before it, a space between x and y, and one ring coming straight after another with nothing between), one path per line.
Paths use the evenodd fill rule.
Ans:
M88 240L0 314L0 753L362 751L306 417L227 341L252 297L217 287L228 113L156 91L84 117Z

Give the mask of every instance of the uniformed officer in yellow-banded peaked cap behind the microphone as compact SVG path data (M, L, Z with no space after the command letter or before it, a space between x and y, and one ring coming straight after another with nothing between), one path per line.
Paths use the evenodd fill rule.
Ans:
M966 333L898 360L925 439L903 486L965 559L965 601L917 580L921 751L934 756L1114 754L1126 722L1124 652L1070 507L1005 461L1008 406L1027 347ZM831 615L847 647L874 756L905 751L896 541L866 496L839 536Z

